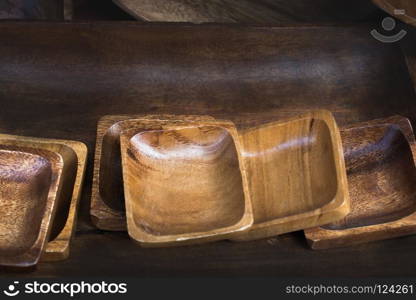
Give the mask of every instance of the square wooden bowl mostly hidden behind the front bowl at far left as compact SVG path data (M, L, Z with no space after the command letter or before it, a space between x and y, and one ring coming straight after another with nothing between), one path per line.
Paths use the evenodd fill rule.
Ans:
M70 241L76 228L76 215L78 202L81 194L82 181L84 177L87 148L83 143L67 140L40 139L0 134L0 148L14 148L15 151L23 153L24 149L33 149L30 152L40 151L59 159L60 184L56 183L56 205L48 204L46 213L43 215L45 223L42 223L42 239L47 244L37 245L36 259L24 263L25 266L35 264L39 258L38 251L42 252L42 261L56 261L68 257ZM53 160L52 160L53 162ZM53 166L53 164L52 164ZM59 186L59 188L58 188ZM48 210L49 209L49 210ZM54 212L54 214L53 214Z

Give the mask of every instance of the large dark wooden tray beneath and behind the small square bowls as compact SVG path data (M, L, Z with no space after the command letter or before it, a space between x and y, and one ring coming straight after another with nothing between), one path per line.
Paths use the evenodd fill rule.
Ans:
M414 122L400 43L374 40L374 26L1 23L0 131L94 149L97 122L108 114L228 115L241 128L327 108L340 125L393 114ZM141 249L125 233L92 226L92 170L70 258L20 275L415 275L415 237L323 252L299 233Z

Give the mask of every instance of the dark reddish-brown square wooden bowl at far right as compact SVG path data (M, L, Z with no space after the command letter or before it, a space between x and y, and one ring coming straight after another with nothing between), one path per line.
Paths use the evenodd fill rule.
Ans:
M348 246L416 233L416 146L408 119L395 116L341 133L351 213L305 230L313 249Z

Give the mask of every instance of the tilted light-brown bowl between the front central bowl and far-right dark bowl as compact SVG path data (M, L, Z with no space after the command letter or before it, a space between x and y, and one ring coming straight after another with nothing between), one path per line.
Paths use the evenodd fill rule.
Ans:
M255 240L314 227L349 212L341 138L332 114L314 111L241 132Z

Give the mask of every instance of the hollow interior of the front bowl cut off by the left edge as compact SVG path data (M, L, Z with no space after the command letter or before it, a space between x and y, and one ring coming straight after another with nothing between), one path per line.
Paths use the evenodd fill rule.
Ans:
M51 185L50 162L39 155L0 150L0 256L35 243Z

